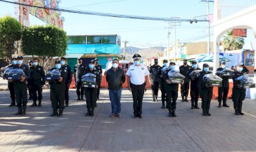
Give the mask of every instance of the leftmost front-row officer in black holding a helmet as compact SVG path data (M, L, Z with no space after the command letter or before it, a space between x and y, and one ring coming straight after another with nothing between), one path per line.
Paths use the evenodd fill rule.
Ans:
M22 69L26 74L26 77L20 77L20 80L14 81L14 91L18 106L18 112L15 115L25 115L28 103L27 80L30 78L30 69L28 65L23 64L22 56L17 57L17 65L13 69Z

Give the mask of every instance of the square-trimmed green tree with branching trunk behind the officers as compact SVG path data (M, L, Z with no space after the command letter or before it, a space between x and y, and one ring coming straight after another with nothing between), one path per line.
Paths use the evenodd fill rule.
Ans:
M64 56L67 49L66 32L54 26L33 26L25 28L22 34L22 52L38 56L40 65L46 71L53 58Z

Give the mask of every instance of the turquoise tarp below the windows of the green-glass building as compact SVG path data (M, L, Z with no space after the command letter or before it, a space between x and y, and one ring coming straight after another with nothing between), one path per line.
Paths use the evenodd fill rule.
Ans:
M69 44L67 54L121 54L117 44Z

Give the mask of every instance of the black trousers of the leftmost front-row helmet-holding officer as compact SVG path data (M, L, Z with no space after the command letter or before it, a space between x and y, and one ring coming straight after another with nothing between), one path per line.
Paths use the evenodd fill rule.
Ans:
M22 106L26 106L28 103L28 92L27 92L28 85L26 83L15 82L14 83L14 91L17 106L20 108Z

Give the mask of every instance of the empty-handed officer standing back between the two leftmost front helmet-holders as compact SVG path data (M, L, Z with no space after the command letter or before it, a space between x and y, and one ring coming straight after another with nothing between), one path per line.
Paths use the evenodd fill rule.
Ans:
M30 67L30 84L32 89L33 104L30 107L37 106L36 100L38 100L38 107L41 107L42 86L45 84L44 76L44 69L38 65L38 59L33 59L32 67Z

